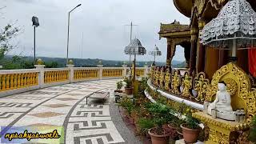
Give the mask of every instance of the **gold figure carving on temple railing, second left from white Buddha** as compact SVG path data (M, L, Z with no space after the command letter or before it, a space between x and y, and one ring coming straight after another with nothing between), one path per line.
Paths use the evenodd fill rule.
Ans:
M192 98L190 94L190 89L192 88L192 77L190 77L188 72L185 72L184 76L182 77L182 96L186 98Z

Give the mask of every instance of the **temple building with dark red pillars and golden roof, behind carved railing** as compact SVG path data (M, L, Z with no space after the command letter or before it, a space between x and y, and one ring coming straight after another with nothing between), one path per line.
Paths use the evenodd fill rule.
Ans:
M180 22L170 24L161 24L160 38L167 39L167 57L166 66L175 54L175 46L184 47L186 62L190 62L190 72L194 74L204 71L208 78L214 75L214 72L228 62L229 53L227 50L216 50L212 47L202 46L199 42L199 32L216 18L218 12L225 6L228 0L174 0L174 6L177 10L190 18L190 25L182 25ZM256 10L256 2L247 0ZM249 72L247 50L238 50L237 66L242 70Z

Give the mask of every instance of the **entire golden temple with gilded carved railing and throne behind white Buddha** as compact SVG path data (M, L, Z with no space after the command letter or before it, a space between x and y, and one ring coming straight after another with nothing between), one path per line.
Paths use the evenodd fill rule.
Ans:
M176 20L170 24L161 23L158 34L160 38L167 39L166 66L153 66L150 71L151 89L166 97L170 105L179 102L195 109L193 117L198 118L206 130L205 143L246 142L250 122L256 114L256 50L238 49L236 59L231 61L232 50L218 49L200 42L200 34L206 24L218 17L228 2L229 0L174 0L174 6L190 18L190 24L183 25ZM246 2L256 10L255 0ZM184 48L185 71L171 68L178 45ZM256 45L252 44L250 47L254 48ZM210 114L206 114L205 104L214 102L220 82L226 84L233 110L245 110L246 116L242 122L212 118Z

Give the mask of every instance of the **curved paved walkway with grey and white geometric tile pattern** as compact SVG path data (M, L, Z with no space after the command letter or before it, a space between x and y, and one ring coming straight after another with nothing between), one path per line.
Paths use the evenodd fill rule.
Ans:
M118 80L79 82L53 86L0 98L1 142L6 133L46 134L58 130L61 138L14 139L16 143L141 143L122 122L114 104ZM106 102L86 97L95 91L110 92Z

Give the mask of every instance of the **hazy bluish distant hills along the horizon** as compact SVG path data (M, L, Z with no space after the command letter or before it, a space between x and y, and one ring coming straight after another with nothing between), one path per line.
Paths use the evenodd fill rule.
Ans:
M13 56L12 55L6 55L6 59L11 59ZM21 57L24 60L27 61L34 61L34 57ZM66 66L66 58L50 58L50 57L38 57L41 58L43 62L57 62L58 67L65 67ZM102 61L102 65L106 67L120 67L124 63L126 65L129 65L129 61L117 61L117 60L104 60L104 59L98 59L98 58L71 58L74 62L74 65L77 67L95 67L99 64L100 61ZM142 66L150 66L152 64L152 61L149 62L136 62L137 66L142 67ZM181 64L182 62L179 61L173 61L172 64L178 65ZM156 62L157 66L165 66L166 62Z

